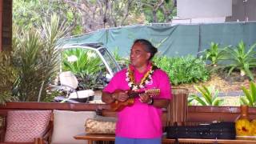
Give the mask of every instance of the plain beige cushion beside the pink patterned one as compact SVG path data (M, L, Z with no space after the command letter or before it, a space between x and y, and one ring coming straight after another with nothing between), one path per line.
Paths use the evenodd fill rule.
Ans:
M54 132L52 144L84 144L85 141L74 139L75 135L85 133L87 118L94 118L94 111L54 110Z

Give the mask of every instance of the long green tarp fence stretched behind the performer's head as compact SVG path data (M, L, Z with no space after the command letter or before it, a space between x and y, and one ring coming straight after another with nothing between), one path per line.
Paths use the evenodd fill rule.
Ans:
M176 25L150 24L123 26L63 38L65 44L102 42L110 51L127 57L135 39L145 38L158 47L160 55L170 57L198 56L210 47L210 42L220 46L237 46L243 40L247 46L256 42L256 22L229 22L218 24Z

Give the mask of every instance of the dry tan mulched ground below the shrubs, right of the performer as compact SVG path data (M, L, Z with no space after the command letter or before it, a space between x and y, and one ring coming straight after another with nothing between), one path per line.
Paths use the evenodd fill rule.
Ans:
M253 72L256 74L256 70ZM173 87L185 87L189 90L189 94L200 95L194 86L214 86L215 90L219 91L218 97L223 99L220 106L240 106L240 98L244 96L241 87L245 86L246 89L249 89L250 81L248 78L241 77L238 72L234 72L230 76L226 76L224 73L214 73L211 74L210 80L206 82L181 84Z

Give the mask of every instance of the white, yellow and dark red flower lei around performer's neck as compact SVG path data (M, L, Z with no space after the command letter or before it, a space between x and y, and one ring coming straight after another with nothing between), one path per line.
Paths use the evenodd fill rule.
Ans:
M130 90L138 90L138 88L143 89L145 88L146 84L152 82L152 74L154 73L154 70L158 69L158 67L150 63L150 69L147 70L146 74L144 74L143 78L141 79L141 82L138 84L135 83L134 70L132 69L133 68L129 66L126 71L126 82L128 82Z

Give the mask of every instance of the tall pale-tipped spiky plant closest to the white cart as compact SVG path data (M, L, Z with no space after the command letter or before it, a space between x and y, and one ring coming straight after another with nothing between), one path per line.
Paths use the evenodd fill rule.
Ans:
M44 48L40 53L40 62L44 69L42 70L43 76L38 94L38 102L46 97L46 88L56 76L59 66L58 57L60 54L56 47L62 46L62 41L60 41L59 38L69 34L68 29L69 26L66 25L66 22L61 22L57 14L51 15L50 22L47 18L42 20L42 26L41 29L38 30L38 33L44 41ZM43 98L41 98L41 95Z

